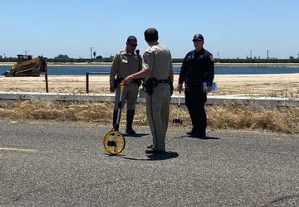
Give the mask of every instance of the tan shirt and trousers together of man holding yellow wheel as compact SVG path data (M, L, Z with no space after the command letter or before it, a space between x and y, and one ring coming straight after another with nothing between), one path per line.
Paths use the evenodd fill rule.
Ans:
M143 69L150 70L151 76L158 80L168 79L172 71L170 51L158 42L149 43L143 55ZM147 94L147 119L152 133L154 150L165 150L165 138L169 119L170 85L160 83L153 88L153 94Z

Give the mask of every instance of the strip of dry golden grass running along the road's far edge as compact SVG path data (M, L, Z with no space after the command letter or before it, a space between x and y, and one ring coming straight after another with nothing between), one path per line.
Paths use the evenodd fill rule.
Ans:
M126 107L126 106L125 106ZM299 107L264 108L244 104L209 105L206 107L210 129L254 129L273 132L299 133ZM100 102L40 102L20 101L0 105L0 117L14 120L55 120L93 122L103 125L112 123L112 103ZM126 124L126 110L121 116L121 125ZM138 104L134 125L147 125L144 104ZM170 106L170 125L176 118L176 105ZM186 106L181 106L183 126L191 121Z

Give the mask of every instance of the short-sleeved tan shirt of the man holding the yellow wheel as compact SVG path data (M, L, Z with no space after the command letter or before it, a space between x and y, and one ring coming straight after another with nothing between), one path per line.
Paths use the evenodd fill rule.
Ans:
M173 69L168 48L158 42L151 42L143 54L142 68L151 70L151 76L148 78L167 79L170 70Z

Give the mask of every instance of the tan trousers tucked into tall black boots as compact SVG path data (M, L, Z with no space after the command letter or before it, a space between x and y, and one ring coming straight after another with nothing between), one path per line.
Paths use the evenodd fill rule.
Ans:
M126 101L127 110L134 110L137 101L138 92L139 92L138 84L132 83L129 85L125 85L123 88L123 95L121 98L121 109L123 109L123 106ZM116 92L115 92L114 110L118 110L119 97L120 97L120 84L117 84Z

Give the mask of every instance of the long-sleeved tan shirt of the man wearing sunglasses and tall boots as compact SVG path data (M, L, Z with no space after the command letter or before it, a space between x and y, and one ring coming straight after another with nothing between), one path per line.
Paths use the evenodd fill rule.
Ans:
M128 75L138 72L138 65L138 57L135 51L129 54L124 49L116 53L110 69L110 86L114 86L115 75L117 78L126 78Z

